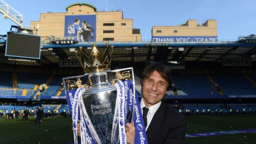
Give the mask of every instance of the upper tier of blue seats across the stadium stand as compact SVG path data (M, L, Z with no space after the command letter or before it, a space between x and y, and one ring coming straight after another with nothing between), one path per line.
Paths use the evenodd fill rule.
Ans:
M42 75L17 73L17 89L13 88L11 72L1 71L0 74L6 76L1 77L0 95L4 96L32 96L36 94L40 84L47 83L47 89L44 89L40 96L65 96L64 91L60 91L63 75ZM255 75L210 75L210 78L221 87L224 95L255 95L256 85ZM141 96L140 78L135 75L135 89L138 96ZM83 80L86 83L87 80ZM211 83L207 75L204 74L183 74L173 75L173 84L175 89L168 91L167 95L174 96L177 92L178 96L186 95L220 95L217 88Z

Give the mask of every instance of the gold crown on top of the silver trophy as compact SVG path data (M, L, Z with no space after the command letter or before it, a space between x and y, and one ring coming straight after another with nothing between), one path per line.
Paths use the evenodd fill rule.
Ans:
M96 44L92 44L92 51L88 56L82 47L79 47L80 53L75 51L76 57L78 57L82 68L85 73L95 73L100 71L106 71L110 69L110 63L112 60L114 46L110 46L109 43L106 43L105 51L101 55L97 50Z

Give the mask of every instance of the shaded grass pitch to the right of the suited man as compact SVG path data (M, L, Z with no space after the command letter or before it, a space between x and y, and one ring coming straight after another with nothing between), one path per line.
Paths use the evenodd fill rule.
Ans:
M256 133L235 133L237 130L256 129L255 114L232 114L215 116L187 116L187 134L220 132L210 135L186 138L186 144L256 144ZM225 134L226 131L234 133Z

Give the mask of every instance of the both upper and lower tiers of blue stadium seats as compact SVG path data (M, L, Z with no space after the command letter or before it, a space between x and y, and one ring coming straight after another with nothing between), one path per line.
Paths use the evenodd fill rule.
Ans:
M64 75L42 75L42 74L31 74L31 73L14 73L0 71L0 74L6 75L1 76L0 81L0 96L4 97L15 97L15 96L28 96L31 97L35 95L39 91L40 84L47 84L47 89L41 91L41 97L49 97L49 100L42 100L41 102L44 104L45 113L48 113L48 110L52 111L52 109L57 109L59 114L64 114L68 116L68 105L66 105L66 101L64 100L51 100L52 96L65 96L65 92L61 90L61 82ZM111 76L110 76L111 77ZM17 79L17 83L13 82L14 79ZM112 77L111 77L112 78ZM113 79L113 78L112 78ZM225 74L215 74L215 75L206 75L206 74L174 74L173 75L173 89L167 92L168 96L176 97L179 102L181 102L180 106L174 107L177 111L178 108L182 108L182 113L187 114L186 110L190 110L190 113L196 114L196 110L199 110L199 113L202 114L203 109L205 110L205 114L207 114L207 108L210 109L210 113L215 113L215 110L222 109L222 113L229 113L229 108L232 108L233 113L236 113L235 110L238 109L239 113L242 113L243 108L245 108L245 112L249 113L249 109L251 108L254 112L256 110L256 104L250 103L250 100L246 101L233 101L232 100L214 100L211 98L215 96L234 96L234 95L242 95L242 96L250 96L255 95L256 86L255 86L255 75L225 75ZM82 78L82 83L87 83L87 79ZM138 96L142 96L141 94L141 86L140 86L140 78L139 75L134 75L135 81L135 90L137 91ZM17 84L17 88L15 88L15 84ZM223 95L217 90L217 87L214 84L218 84L220 86L220 91L223 92ZM183 99L184 97L185 99ZM186 97L194 96L200 98L208 98L207 101L204 100L195 100ZM173 98L172 97L172 98ZM169 97L167 97L168 100ZM169 99L172 100L172 99ZM16 102L18 102L16 100ZM49 105L49 103L55 103L53 105ZM36 109L38 104L34 104L28 106L29 109ZM60 107L59 107L60 106ZM25 106L22 105L7 105L7 103L1 103L0 110L3 109L8 110L22 110ZM65 112L64 112L65 110ZM56 113L54 111L54 113Z

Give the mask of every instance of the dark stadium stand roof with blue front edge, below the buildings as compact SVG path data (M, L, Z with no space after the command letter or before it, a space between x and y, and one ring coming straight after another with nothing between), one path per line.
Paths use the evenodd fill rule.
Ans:
M251 38L251 37L250 37ZM5 40L0 41L0 63L32 66L56 66L59 62L77 62L74 50L83 47L86 54L91 53L93 42L77 44L42 43L41 59L35 62L9 60L5 56ZM106 42L96 42L100 52L105 50ZM222 63L226 65L252 65L256 62L256 42L246 37L236 42L109 42L114 46L112 62L170 62L170 63Z

